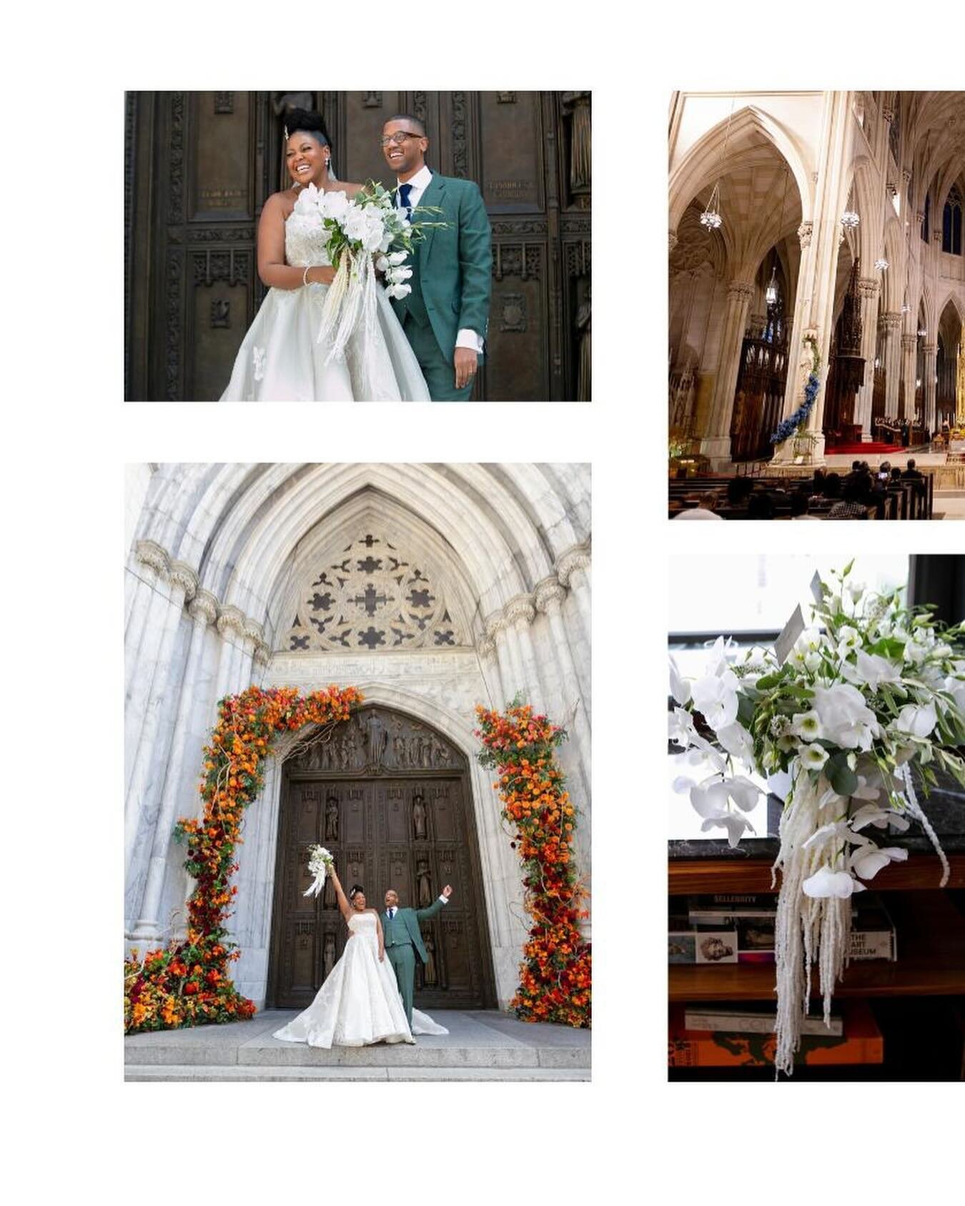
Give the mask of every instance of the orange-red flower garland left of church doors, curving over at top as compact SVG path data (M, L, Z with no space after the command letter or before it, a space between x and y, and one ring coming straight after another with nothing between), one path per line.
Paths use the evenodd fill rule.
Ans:
M238 870L245 808L262 790L264 759L271 739L305 725L347 720L362 702L355 687L328 687L300 696L293 687L248 687L226 696L218 722L205 747L200 819L182 816L175 838L187 841L185 870L195 880L188 900L188 932L144 960L131 952L124 961L124 1031L177 1030L204 1023L236 1021L255 1013L228 976L240 958L228 938L228 906L238 894L229 886Z

